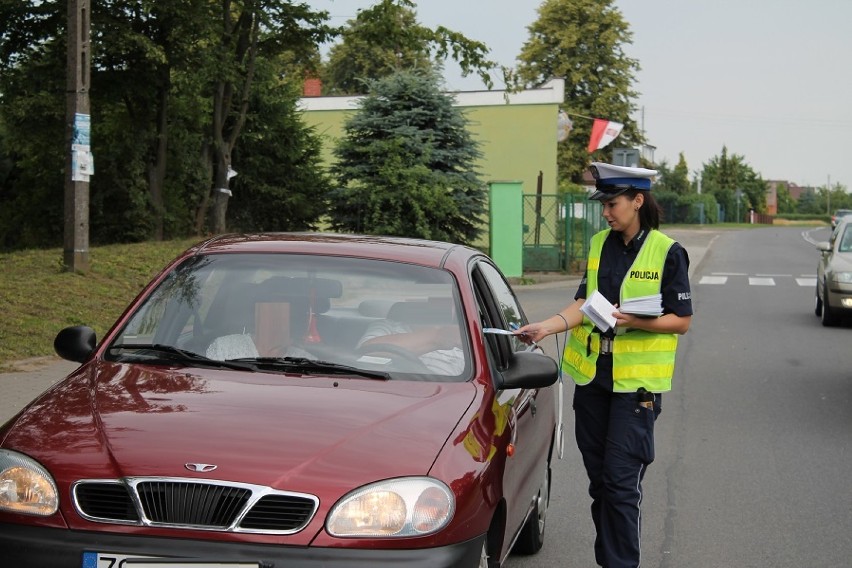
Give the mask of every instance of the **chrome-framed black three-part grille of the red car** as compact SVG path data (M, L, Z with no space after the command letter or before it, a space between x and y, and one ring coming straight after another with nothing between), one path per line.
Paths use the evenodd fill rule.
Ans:
M303 493L180 478L84 480L72 493L90 521L264 534L302 530L319 504Z

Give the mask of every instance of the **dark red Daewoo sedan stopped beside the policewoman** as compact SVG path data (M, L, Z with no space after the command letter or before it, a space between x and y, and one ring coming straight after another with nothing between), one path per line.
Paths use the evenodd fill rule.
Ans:
M50 568L500 566L541 548L556 363L463 246L222 236L0 429L0 558Z

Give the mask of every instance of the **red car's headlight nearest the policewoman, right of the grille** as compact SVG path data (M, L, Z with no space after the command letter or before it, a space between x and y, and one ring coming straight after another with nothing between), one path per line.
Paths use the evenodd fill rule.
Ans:
M341 499L328 516L333 536L422 536L441 530L455 511L450 488L428 477L389 479Z

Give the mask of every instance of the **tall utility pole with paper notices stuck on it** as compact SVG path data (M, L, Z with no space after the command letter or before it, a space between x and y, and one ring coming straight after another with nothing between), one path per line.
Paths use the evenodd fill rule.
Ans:
M65 112L65 242L63 261L72 272L89 270L90 142L89 0L68 0L68 69Z

